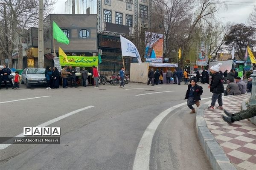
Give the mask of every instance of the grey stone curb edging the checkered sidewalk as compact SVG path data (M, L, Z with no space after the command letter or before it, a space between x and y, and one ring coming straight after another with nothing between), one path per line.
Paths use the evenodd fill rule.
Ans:
M198 133L198 139L213 170L237 170L236 167L230 163L227 155L224 153L207 127L207 124L204 120L204 109L208 106L207 103L201 105L196 113L195 124Z

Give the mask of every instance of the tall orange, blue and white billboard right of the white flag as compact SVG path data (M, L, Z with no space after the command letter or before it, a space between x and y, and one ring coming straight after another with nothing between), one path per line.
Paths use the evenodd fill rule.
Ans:
M163 62L163 34L145 32L146 62Z

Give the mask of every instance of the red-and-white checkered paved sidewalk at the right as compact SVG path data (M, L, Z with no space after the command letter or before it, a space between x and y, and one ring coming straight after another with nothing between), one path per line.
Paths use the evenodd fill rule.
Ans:
M243 100L250 98L250 94L223 97L223 107L235 113L241 110ZM218 106L216 102L215 107ZM256 170L256 125L247 119L229 125L221 118L225 115L220 109L205 109L204 119L207 127L215 136L230 161L238 168Z

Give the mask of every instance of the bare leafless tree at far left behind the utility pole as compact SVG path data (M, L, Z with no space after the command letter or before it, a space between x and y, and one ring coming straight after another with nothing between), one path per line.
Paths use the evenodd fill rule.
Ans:
M23 44L26 30L38 26L38 0L2 0L0 3L0 48L12 64L12 52L18 50L18 66L23 67ZM44 17L52 10L55 0L44 0Z

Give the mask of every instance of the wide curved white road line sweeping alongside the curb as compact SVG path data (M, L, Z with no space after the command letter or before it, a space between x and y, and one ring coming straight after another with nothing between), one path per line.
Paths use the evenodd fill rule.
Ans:
M203 98L202 100L204 99L211 99L211 97ZM160 125L162 120L169 113L171 113L171 111L186 104L187 104L186 102L183 102L178 105L175 105L163 111L152 120L152 122L148 125L148 127L144 131L142 138L140 139L140 143L137 147L137 151L134 159L133 170L149 170L151 144L154 137L154 133L157 130L158 125ZM175 114L171 115L170 117L174 116Z

